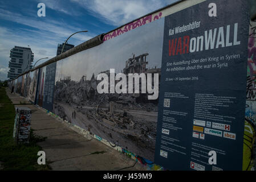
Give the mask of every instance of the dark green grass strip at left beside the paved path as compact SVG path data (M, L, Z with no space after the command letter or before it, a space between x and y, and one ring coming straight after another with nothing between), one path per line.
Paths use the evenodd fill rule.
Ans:
M14 105L6 95L5 88L0 87L0 161L3 162L2 170L48 170L46 165L38 165L38 151L42 150L36 142L45 138L30 133L29 144L16 145L13 139L13 127L15 118Z

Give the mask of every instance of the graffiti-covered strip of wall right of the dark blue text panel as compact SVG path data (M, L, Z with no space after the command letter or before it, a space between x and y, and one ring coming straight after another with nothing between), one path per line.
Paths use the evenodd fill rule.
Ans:
M245 134L243 136L243 170L255 169L255 129L256 129L256 22L250 22L247 88L245 111Z

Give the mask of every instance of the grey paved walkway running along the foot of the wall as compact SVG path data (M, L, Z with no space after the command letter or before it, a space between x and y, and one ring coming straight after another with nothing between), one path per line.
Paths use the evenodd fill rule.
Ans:
M31 127L36 135L47 137L38 144L46 152L46 159L50 162L52 170L146 169L139 162L136 163L96 139L84 137L65 123L52 118L43 109L16 94L11 94L9 89L6 89L6 93L15 106L26 106L32 110Z

